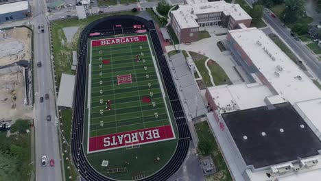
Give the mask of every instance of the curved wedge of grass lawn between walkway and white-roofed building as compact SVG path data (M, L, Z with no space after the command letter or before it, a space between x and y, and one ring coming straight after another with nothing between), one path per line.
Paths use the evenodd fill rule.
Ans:
M214 84L216 86L222 84L230 84L230 79L228 78L222 67L219 66L219 64L217 64L213 60L209 60L209 62L207 62L207 66L209 66L209 69L211 70Z

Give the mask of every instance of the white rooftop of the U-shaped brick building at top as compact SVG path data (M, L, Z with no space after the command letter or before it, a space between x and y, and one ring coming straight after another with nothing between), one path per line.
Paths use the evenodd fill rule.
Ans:
M187 3L180 5L178 10L171 12L181 28L198 27L198 23L195 21L195 19L198 19L197 14L224 12L224 14L232 16L235 21L252 19L239 4L230 4L225 1L208 2L204 0L189 0Z

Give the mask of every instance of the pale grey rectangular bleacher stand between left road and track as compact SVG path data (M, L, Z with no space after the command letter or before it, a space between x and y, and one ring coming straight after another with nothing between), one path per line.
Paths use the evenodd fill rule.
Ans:
M75 89L75 75L62 73L57 105L67 108L73 107L73 93Z

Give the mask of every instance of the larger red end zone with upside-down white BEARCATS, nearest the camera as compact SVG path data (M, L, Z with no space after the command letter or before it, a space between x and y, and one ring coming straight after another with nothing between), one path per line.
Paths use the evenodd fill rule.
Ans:
M175 138L171 125L89 138L89 152L154 143Z

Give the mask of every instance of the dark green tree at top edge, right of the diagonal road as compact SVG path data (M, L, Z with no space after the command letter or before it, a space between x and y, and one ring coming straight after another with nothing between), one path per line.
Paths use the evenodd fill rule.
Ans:
M305 12L304 0L285 0L285 10L283 14L283 21L286 23L294 23Z

